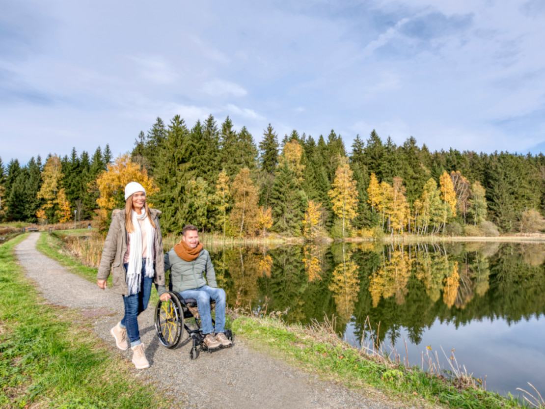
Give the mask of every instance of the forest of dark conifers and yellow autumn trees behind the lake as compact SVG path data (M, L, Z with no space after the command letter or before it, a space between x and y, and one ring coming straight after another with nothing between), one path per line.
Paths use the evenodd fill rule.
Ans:
M38 155L22 165L0 158L0 220L95 220L107 227L137 180L160 209L161 227L185 224L226 236L381 237L384 234L490 236L545 227L545 157L517 153L429 151L376 131L352 146L331 130L317 139L271 124L256 142L246 127L213 116L189 128L157 118L113 158Z

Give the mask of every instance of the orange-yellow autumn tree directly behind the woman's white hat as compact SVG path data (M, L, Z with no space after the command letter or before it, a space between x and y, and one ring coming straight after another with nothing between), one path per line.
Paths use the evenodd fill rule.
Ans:
M125 185L129 182L138 182L146 189L147 202L153 199L153 195L159 192L153 178L148 176L148 171L130 159L129 154L120 155L113 163L107 165L107 169L96 179L95 184L100 196L96 199L99 206L99 216L106 220L114 208L125 207ZM151 206L151 205L150 205Z

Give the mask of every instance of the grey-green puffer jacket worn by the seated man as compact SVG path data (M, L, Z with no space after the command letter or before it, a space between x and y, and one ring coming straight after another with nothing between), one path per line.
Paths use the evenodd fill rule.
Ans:
M176 254L174 249L171 249L165 254L165 273L168 270L171 270L172 291L180 292L199 288L207 285L207 280L210 287L217 287L216 273L207 250L202 249L195 260L185 261ZM165 285L157 286L159 295L166 291Z

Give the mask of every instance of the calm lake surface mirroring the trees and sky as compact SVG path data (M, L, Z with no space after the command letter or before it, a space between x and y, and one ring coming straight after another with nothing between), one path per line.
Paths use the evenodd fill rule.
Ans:
M231 306L283 311L288 322L335 316L337 332L353 345L373 336L403 359L406 341L410 364L419 366L431 346L445 369L455 350L457 362L488 390L516 395L530 382L545 392L545 244L334 244L210 253Z

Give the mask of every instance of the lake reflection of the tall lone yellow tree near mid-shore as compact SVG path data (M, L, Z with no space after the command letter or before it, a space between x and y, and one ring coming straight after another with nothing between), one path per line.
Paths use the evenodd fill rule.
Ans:
M329 284L337 304L337 314L343 322L350 320L360 290L359 266L350 260L350 255L347 258L335 268Z

